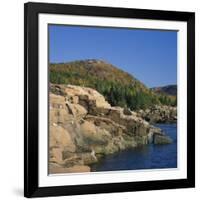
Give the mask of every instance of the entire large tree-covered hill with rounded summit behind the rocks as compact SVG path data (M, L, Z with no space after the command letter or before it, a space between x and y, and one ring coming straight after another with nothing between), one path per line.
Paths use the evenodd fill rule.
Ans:
M176 99L156 94L132 75L102 60L50 64L50 82L91 87L112 106L144 109L155 104L176 105Z

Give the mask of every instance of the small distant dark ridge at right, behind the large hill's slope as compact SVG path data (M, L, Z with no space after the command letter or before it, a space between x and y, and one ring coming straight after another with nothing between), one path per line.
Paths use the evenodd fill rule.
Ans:
M177 85L166 85L162 87L151 88L154 92L159 94L167 94L177 96Z

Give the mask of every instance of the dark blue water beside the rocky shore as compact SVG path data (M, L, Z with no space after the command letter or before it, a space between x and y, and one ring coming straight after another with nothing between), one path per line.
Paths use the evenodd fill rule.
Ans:
M91 166L92 171L162 169L177 167L177 125L156 124L173 139L173 143L165 145L144 145L107 155L97 164Z

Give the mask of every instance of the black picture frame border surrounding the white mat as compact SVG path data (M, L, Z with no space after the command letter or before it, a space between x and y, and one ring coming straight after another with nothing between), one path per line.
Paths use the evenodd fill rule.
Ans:
M39 187L38 15L70 14L187 22L187 178ZM195 187L195 13L47 3L24 5L24 196L44 197Z

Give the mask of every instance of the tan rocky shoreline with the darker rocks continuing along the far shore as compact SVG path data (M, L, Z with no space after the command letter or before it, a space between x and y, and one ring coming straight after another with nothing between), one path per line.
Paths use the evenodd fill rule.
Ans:
M153 122L175 120L171 108L159 115L155 109L136 113L112 107L94 89L74 85L51 84L49 100L50 174L89 172L102 156L138 145L172 142L148 120L152 116Z

